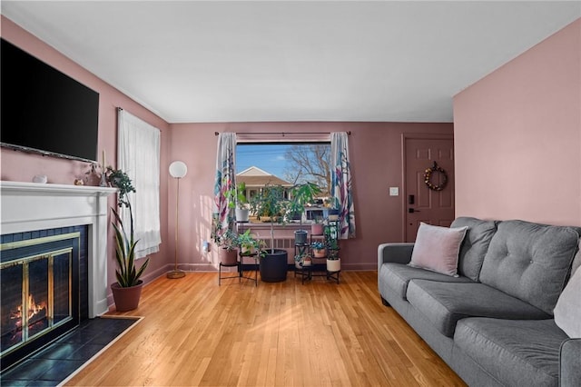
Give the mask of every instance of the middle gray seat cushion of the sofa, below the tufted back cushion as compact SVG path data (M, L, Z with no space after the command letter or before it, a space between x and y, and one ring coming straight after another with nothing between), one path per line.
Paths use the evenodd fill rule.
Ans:
M452 337L458 320L466 317L494 317L510 320L547 319L551 316L516 297L484 283L438 283L411 280L409 303Z

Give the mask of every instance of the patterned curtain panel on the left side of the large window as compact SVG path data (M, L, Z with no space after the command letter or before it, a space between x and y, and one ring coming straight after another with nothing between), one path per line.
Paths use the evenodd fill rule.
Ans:
M216 243L219 243L223 233L234 229L234 209L229 207L225 192L236 186L235 156L236 134L218 134L212 213L212 239Z

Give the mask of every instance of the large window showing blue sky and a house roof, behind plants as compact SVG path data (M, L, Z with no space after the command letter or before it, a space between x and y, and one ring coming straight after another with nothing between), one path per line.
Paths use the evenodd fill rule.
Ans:
M302 219L312 222L322 217L323 206L330 196L330 143L238 143L236 182L245 184L249 201L267 185L288 188L285 193L288 198L295 184L317 184L320 197L305 208Z

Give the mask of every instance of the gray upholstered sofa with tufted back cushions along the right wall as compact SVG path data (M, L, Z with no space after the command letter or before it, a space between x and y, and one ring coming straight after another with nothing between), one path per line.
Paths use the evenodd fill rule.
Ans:
M581 386L581 339L553 319L581 264L581 228L469 217L451 225L462 226L457 277L409 266L413 243L380 244L383 303L468 385Z

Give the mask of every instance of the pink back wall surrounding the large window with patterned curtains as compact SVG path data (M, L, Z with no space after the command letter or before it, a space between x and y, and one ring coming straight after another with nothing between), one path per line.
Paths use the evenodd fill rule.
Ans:
M350 131L357 238L341 242L343 269L377 269L379 243L402 241L402 134L452 134L452 124L399 123L237 123L172 124L172 160L188 164L180 183L180 262L192 270L217 268L216 249L202 254L210 240L217 137L214 132ZM169 236L174 238L175 184L169 186ZM267 232L264 232L267 233ZM261 232L262 234L262 232ZM212 246L214 247L214 246Z

